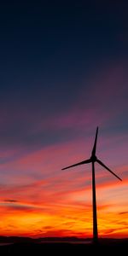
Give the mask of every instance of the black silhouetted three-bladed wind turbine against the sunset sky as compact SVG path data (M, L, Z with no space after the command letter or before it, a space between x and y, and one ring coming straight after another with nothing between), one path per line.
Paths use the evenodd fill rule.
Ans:
M101 160L97 159L96 157L96 143L97 143L97 134L98 134L98 127L96 128L96 137L95 137L95 142L94 146L92 148L91 156L90 159L88 160L83 160L79 163L76 163L72 166L67 166L65 168L62 168L61 170L66 170L68 168L74 167L74 166L81 166L84 164L92 164L92 204L93 204L93 241L97 242L98 241L98 230L97 230L97 214L96 214L96 183L95 183L95 162L103 166L105 169L108 170L108 172L111 172L115 177L119 178L120 181L122 179L117 176L114 172L112 172L108 166L105 166Z

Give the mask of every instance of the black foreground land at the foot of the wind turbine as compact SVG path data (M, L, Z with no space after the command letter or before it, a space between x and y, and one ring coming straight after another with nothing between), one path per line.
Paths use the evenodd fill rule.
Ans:
M102 239L97 245L71 242L16 242L0 246L0 255L127 255L127 252L127 239Z

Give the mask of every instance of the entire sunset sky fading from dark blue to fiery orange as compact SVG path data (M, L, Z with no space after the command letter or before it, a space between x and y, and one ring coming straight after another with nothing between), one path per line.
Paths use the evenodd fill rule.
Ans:
M13 2L13 3L12 3ZM46 3L47 2L47 3ZM127 1L3 1L0 235L128 236Z

